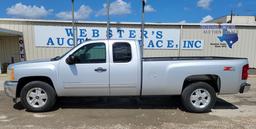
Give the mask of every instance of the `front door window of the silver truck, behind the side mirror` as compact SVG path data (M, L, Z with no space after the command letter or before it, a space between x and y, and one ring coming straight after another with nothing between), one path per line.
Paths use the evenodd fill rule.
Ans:
M76 63L106 63L105 43L92 43L84 45L73 53Z

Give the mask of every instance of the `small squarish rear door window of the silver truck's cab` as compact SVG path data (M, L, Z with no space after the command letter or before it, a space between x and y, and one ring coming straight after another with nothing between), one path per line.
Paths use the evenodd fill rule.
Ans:
M113 62L127 63L132 59L132 50L129 43L113 44Z

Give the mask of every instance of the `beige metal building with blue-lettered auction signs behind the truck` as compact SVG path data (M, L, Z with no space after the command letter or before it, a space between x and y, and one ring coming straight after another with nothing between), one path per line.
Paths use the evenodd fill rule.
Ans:
M105 39L105 22L77 22L78 43ZM256 67L256 25L146 23L144 56L247 57ZM62 55L73 46L70 21L0 19L0 64ZM140 23L111 23L112 39L140 40Z

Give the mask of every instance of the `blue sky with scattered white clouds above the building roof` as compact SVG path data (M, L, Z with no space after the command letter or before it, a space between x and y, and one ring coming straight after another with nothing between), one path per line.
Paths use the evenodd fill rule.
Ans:
M71 18L71 0L0 0L1 18ZM110 0L111 21L138 22L141 0ZM106 21L106 0L75 0L76 18ZM146 22L203 22L229 15L256 15L256 0L147 0Z

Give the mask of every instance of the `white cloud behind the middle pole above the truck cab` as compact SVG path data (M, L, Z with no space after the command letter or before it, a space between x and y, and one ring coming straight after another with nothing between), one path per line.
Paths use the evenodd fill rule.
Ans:
M125 15L131 13L131 5L123 0L116 0L110 3L110 15ZM96 16L107 15L107 4L103 4L103 9L98 11Z

